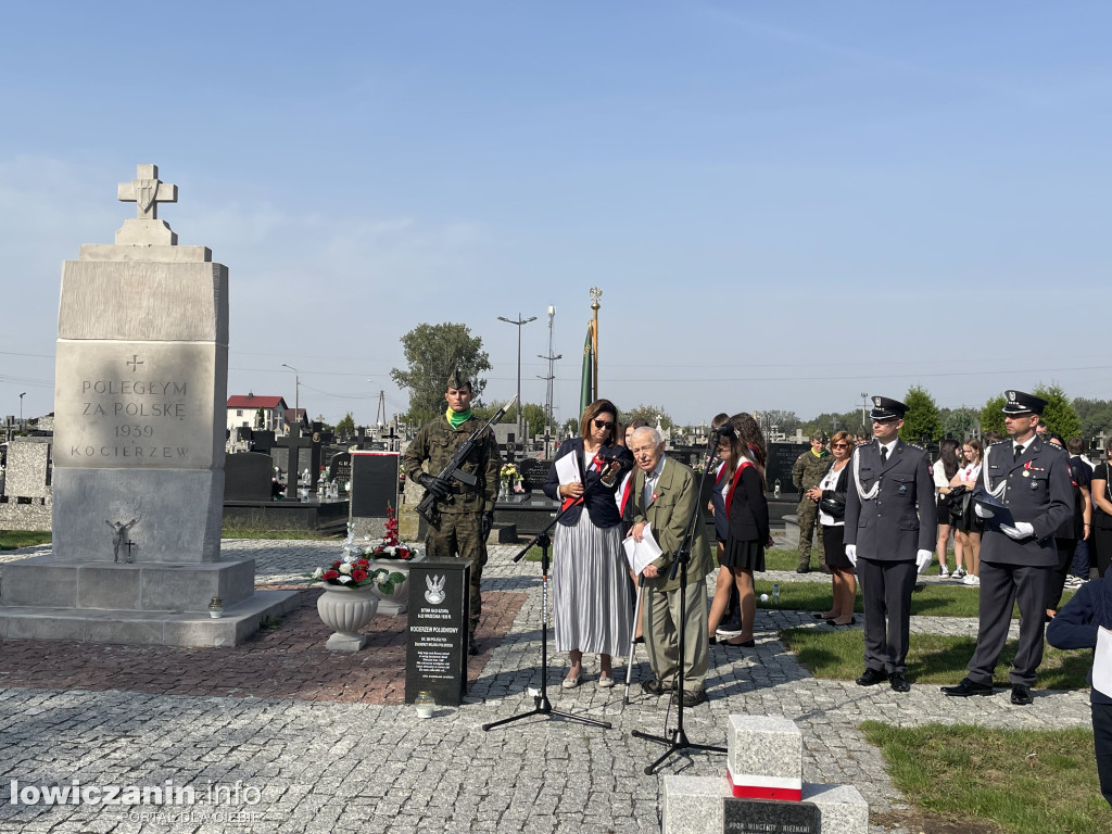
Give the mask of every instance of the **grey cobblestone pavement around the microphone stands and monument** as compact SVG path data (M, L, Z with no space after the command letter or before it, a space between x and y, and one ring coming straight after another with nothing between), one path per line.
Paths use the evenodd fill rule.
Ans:
M259 584L304 582L301 575L331 558L337 547L335 542L242 539L222 545L229 556L255 557ZM4 554L0 562L48 549ZM441 707L433 721L418 719L413 707L368 703L0 688L0 832L658 831L661 776L646 776L643 770L662 748L629 733L661 733L669 719L674 726L666 698L649 697L635 684L631 703L623 705L623 686L597 688L597 667L589 674L595 659L589 657L587 683L562 689L566 658L556 656L549 658L553 707L609 721L614 728L535 716L483 731L484 723L530 709L527 689L540 685L539 566L514 564L516 549L490 548L484 592L524 593L524 603L500 643L484 646L488 657L468 703ZM764 576L782 582L804 577L828 582L823 574ZM1004 692L955 701L936 686L913 686L901 695L887 687L816 681L776 639L778 629L791 626L823 627L806 612L758 610L754 649L712 649L711 702L685 713L692 742L724 745L731 713L785 715L803 731L804 780L853 784L873 811L884 812L902 807L902 800L880 753L857 728L863 721L1089 725L1084 692L1039 692L1032 706L1017 708ZM972 635L976 624L916 617L913 629ZM297 651L324 652L322 644L324 636L319 648ZM87 654L92 647L72 648ZM624 681L624 665L616 675ZM633 677L647 676L642 653ZM661 773L721 776L724 767L721 754L698 753L673 758ZM78 780L86 786L147 787L170 780L173 786L192 786L199 802L141 806L161 815L143 821L139 806L13 805L11 780L20 786ZM229 792L237 782L257 790L258 802L247 804L254 793L205 802L206 786ZM885 830L874 825L873 831Z

